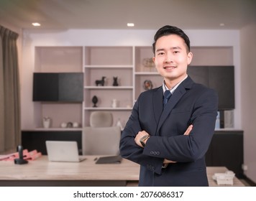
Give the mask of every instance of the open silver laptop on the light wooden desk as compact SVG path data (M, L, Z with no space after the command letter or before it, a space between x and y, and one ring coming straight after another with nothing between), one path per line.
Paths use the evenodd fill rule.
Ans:
M79 156L76 141L45 141L50 162L81 162L85 156Z

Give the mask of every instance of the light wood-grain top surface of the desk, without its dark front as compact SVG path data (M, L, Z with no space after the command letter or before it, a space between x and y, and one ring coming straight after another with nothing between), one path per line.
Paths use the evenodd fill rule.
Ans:
M90 180L90 181L138 181L140 165L123 159L121 164L95 164L99 156L86 156L83 162L48 162L42 156L28 164L0 162L0 180ZM210 186L217 186L212 179L214 173L224 173L226 167L207 167ZM234 178L234 186L244 186Z

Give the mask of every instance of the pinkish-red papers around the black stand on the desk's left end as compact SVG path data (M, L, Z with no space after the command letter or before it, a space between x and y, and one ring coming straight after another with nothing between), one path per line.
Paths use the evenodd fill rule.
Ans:
M23 150L23 159L24 160L35 160L42 156L41 152L37 150L27 151L27 149ZM0 161L14 161L14 159L19 159L19 152L14 152L12 154L6 154L0 156Z

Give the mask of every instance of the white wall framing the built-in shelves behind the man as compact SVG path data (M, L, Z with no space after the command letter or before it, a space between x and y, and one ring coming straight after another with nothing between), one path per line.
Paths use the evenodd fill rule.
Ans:
M36 46L150 46L156 30L112 30L112 29L70 29L70 30L25 30L23 35L22 70L22 129L33 128L34 106L32 102L32 73ZM233 47L235 66L234 127L241 125L240 51L237 30L185 30L191 39L191 46Z

